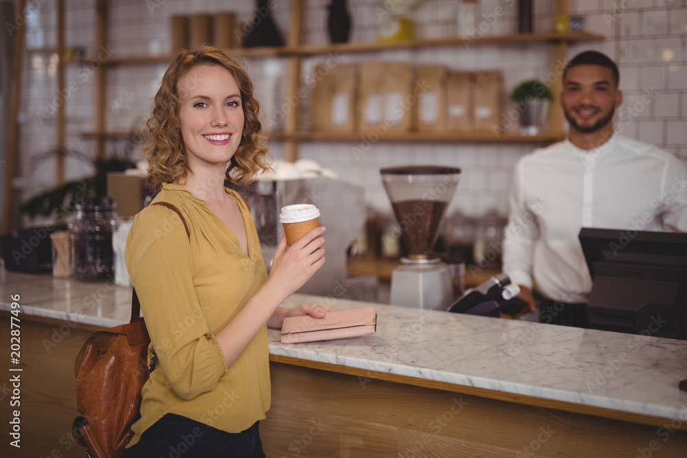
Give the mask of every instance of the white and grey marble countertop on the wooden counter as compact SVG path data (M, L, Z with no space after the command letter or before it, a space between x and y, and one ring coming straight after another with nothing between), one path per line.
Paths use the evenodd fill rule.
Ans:
M21 295L23 314L65 323L114 326L128 321L131 288L0 271L0 310ZM684 419L687 341L526 321L293 295L337 308L374 305L376 333L337 341L282 344L271 354L370 369L455 385L572 402L625 413Z

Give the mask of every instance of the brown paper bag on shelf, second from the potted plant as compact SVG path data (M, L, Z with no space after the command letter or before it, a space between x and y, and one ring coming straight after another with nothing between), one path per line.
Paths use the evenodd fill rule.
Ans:
M449 132L472 132L475 128L474 78L472 73L451 73L447 78Z

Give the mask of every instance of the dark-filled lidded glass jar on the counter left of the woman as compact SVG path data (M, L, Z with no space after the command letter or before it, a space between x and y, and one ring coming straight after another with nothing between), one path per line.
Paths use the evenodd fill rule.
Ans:
M112 234L116 225L115 203L111 198L90 198L76 205L76 218L69 223L71 273L74 276L82 280L112 277Z

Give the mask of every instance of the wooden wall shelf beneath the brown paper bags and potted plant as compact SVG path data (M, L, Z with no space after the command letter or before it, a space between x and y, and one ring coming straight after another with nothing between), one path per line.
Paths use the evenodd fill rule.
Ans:
M326 133L326 132L298 132L286 134L273 132L269 134L269 139L276 141L495 141L495 142L537 142L555 143L565 139L562 134L541 134L541 135L519 135L517 133L504 133L498 138L492 132L475 133L387 133L385 135L363 134L363 133Z

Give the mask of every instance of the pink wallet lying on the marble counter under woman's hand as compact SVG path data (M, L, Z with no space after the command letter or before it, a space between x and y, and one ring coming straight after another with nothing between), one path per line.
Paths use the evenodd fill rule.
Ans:
M282 343L328 341L364 336L376 330L376 309L372 306L328 312L322 319L309 315L288 317L282 325Z

